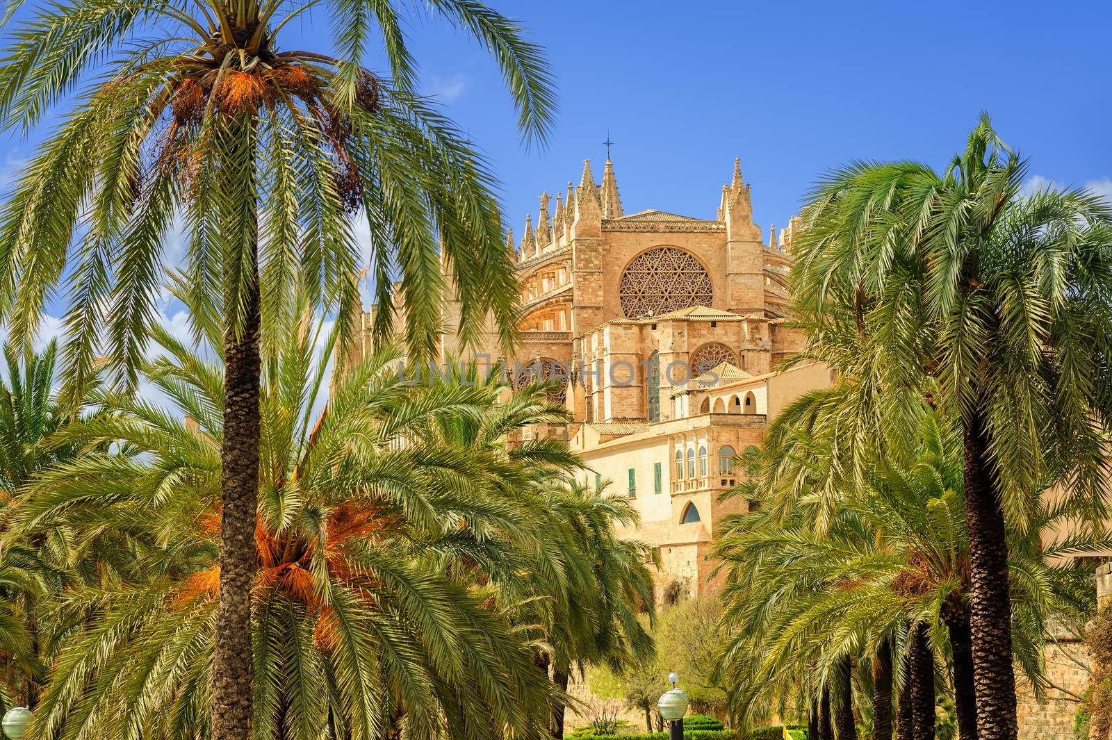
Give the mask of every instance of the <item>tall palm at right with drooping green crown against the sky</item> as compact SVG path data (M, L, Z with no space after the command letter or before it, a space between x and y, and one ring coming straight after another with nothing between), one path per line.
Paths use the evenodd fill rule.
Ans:
M835 404L852 440L837 473L860 479L877 431L906 437L931 382L960 420L982 740L1016 736L1006 524L1024 528L1033 492L1056 481L1101 516L1112 411L1112 210L1078 190L1025 197L1024 173L985 117L941 174L831 173L794 246L804 356L857 380Z

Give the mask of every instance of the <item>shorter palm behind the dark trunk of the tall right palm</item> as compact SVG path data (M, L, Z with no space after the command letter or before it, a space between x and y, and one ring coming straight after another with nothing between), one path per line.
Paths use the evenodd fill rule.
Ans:
M843 397L846 391L841 386L847 382L843 379L797 403L821 407L824 394ZM784 667L793 667L786 671L791 673L815 666L818 686L836 687L843 696L835 708L844 707L846 661L855 658L882 668L887 661L886 678L874 682L873 719L885 722L874 726L874 737L891 737L895 664L903 672L900 737L933 738L939 656L951 668L960 737L979 737L962 443L930 406L920 408L920 442L913 453L874 460L865 472L864 489L844 492L833 510L824 494L815 493L796 500L786 513L768 506L725 522L716 546L728 573L724 599L732 628L723 664L727 674L734 672L735 683L748 687L736 694L742 706L761 707L761 693L770 690L764 677L783 673ZM806 416L797 408L790 411L791 418ZM777 437L782 443L798 439L807 454L818 452L811 459L818 461L820 470L826 468L823 456L836 446L827 442L822 452L811 430L802 428L780 430ZM765 464L778 466L785 451L766 448ZM734 493L753 497L763 483ZM816 512L824 509L830 521L820 528L814 523ZM1015 656L1040 689L1045 686L1041 658L1045 624L1054 616L1080 624L1086 611L1075 586L1080 573L1049 563L1093 546L1084 533L1051 544L1042 543L1040 533L1056 520L1075 516L1069 506L1041 504L1030 528L1010 532L1011 609L1019 628ZM771 690L784 687L774 680ZM850 730L844 718L843 726Z

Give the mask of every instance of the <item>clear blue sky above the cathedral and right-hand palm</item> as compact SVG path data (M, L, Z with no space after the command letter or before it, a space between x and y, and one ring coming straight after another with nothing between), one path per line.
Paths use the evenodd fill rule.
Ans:
M409 32L425 90L486 152L518 236L584 158L602 177L607 131L626 212L713 217L736 156L764 229L851 159L945 166L982 110L1033 176L1112 190L1112 3L492 3L548 50L560 110L545 150L520 146L481 49L434 21Z

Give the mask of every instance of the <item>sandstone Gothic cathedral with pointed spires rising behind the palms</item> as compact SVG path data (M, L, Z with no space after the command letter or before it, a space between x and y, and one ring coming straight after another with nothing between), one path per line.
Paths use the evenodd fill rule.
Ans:
M555 204L540 197L520 242L510 233L523 318L509 364L559 382L574 419L533 433L578 452L585 482L629 497L641 524L623 533L658 550L661 599L717 588L714 528L751 506L718 496L752 472L742 460L768 419L830 382L820 364L774 370L803 342L787 316L796 228L763 242L736 160L714 219L627 214L607 159L602 183L585 162ZM457 344L447 298L444 358L498 357L493 331L487 347Z

